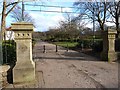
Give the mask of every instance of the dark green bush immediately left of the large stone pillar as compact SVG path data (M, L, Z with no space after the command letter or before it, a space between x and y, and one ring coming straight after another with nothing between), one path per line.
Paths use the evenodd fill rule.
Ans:
M2 42L3 64L12 64L16 61L16 44L13 40Z

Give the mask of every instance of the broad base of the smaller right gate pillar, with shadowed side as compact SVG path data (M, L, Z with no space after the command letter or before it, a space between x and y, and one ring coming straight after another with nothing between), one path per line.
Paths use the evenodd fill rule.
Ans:
M116 61L117 60L117 53L116 52L102 52L101 59L108 61L108 62Z

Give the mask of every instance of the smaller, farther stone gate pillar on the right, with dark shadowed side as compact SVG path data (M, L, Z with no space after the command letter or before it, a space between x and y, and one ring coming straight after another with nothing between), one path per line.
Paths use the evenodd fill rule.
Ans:
M103 35L103 52L101 53L102 60L108 60L109 62L117 60L117 54L115 52L115 35L117 31L108 29L102 33Z

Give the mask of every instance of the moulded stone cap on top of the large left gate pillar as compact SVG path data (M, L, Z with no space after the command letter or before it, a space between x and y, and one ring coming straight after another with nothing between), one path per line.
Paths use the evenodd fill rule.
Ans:
M12 23L13 31L33 31L33 24L28 22Z

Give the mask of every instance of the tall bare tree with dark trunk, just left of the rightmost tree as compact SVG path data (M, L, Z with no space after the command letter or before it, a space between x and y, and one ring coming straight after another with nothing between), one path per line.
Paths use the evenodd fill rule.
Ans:
M79 7L78 10L80 14L83 14L87 19L97 21L99 23L100 29L104 30L104 25L109 14L107 13L109 9L108 2L80 2L74 3L75 6Z

